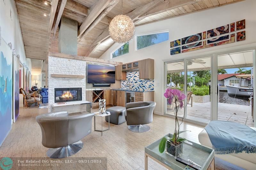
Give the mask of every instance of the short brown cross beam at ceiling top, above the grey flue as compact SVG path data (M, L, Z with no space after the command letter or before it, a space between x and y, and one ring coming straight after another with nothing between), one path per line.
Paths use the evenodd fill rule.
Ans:
M65 8L72 11L72 12L75 12L77 14L81 14L83 16L88 16L88 9L86 6L84 5L81 5L75 1L72 1L72 0L67 0L67 3L65 5Z

